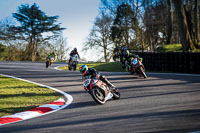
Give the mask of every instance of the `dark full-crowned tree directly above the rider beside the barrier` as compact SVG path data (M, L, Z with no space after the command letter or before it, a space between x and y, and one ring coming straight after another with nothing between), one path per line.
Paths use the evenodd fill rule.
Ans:
M117 8L117 15L114 19L111 36L115 43L127 45L128 48L133 48L131 42L134 39L134 32L138 27L137 19L130 5L123 3Z

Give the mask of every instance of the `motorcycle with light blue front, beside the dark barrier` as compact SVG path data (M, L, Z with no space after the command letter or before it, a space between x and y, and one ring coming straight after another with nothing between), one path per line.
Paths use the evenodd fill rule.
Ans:
M144 65L142 64L142 61L140 61L138 58L133 58L133 60L131 60L129 72L131 74L137 73L140 77L147 78Z

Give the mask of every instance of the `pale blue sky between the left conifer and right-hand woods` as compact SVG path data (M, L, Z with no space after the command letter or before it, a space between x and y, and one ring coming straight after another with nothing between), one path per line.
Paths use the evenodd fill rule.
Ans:
M100 0L0 0L0 20L12 17L12 13L16 13L21 4L33 3L47 16L58 15L61 27L67 28L63 36L67 38L68 46L76 47L80 56L91 57L90 53L84 53L81 49L98 15ZM94 58L97 57L88 60Z

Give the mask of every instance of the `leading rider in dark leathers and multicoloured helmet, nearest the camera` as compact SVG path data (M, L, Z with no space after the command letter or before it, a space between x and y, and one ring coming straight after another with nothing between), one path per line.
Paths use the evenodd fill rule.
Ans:
M87 65L81 65L79 70L82 73L83 77L90 76L90 78L100 79L107 86L109 86L109 88L116 90L116 87L111 84L105 76L100 75L99 72L94 68L88 68Z

